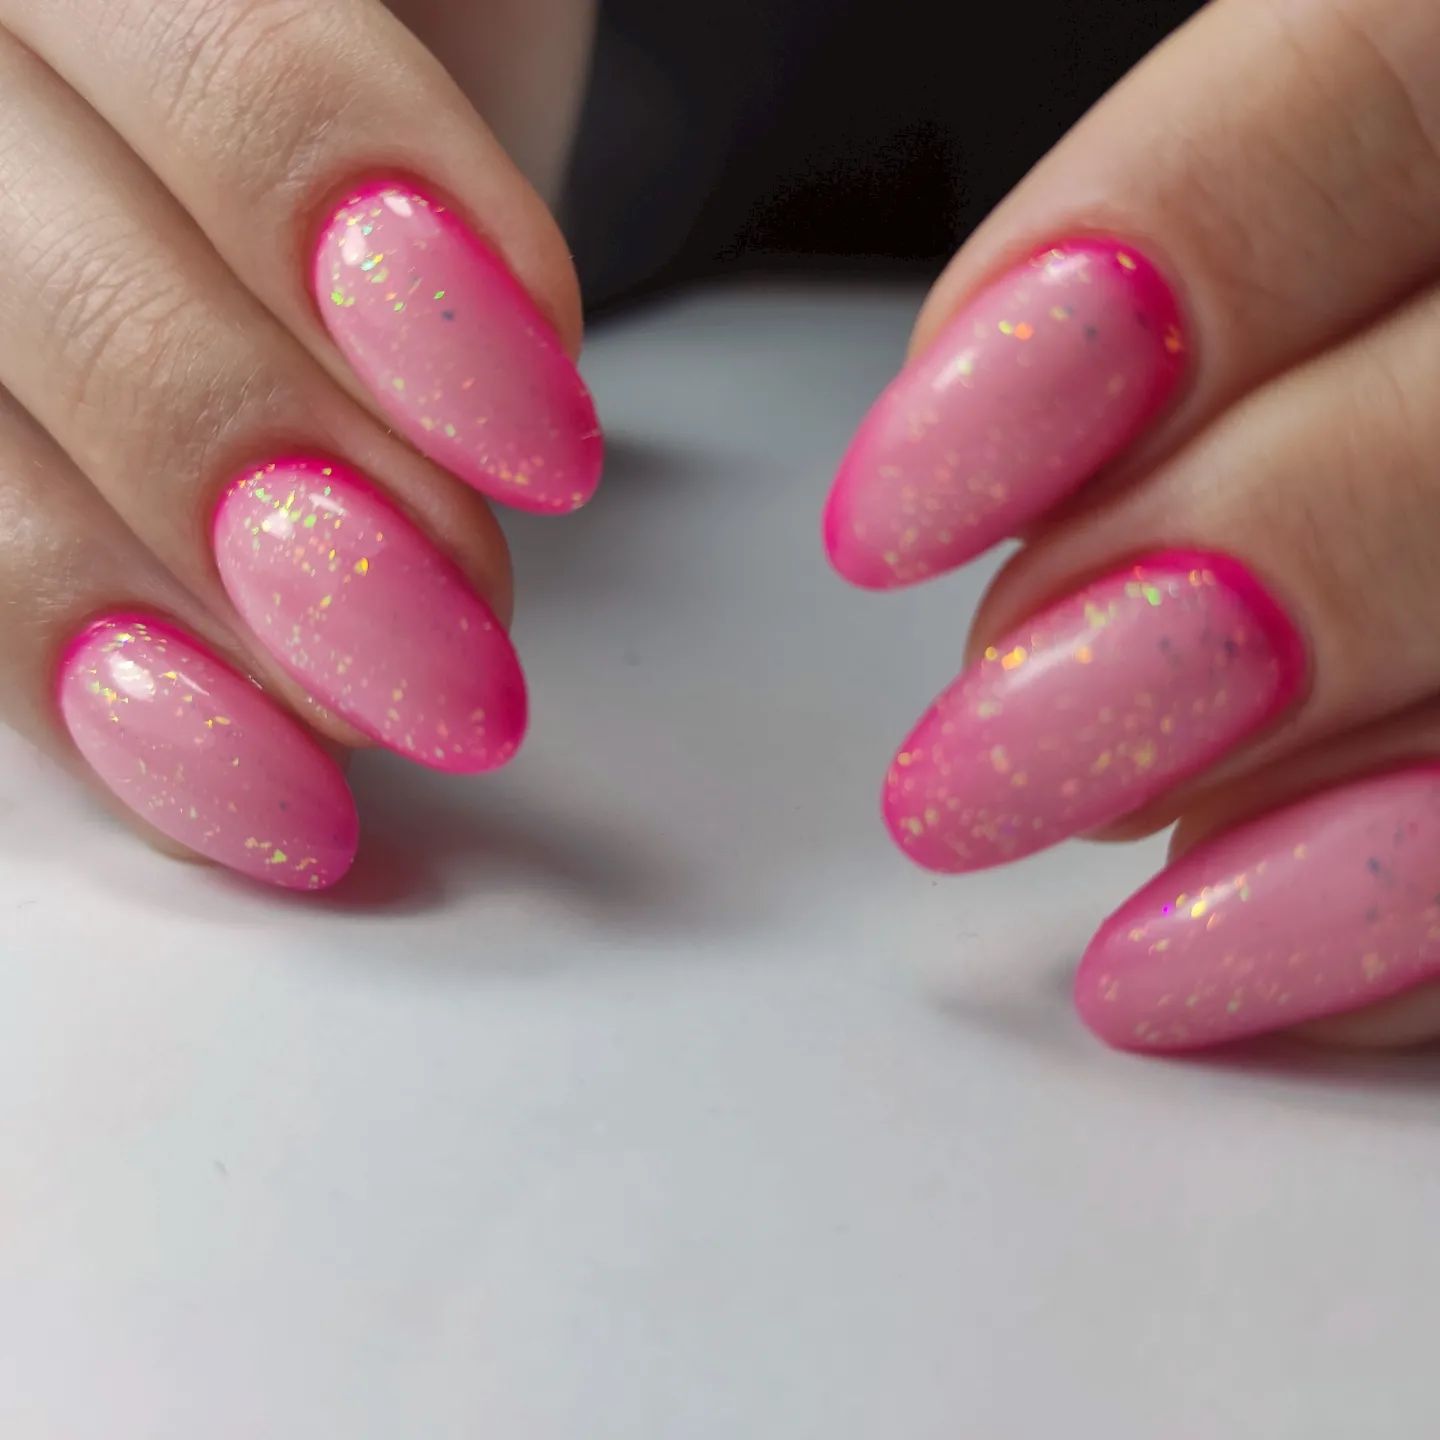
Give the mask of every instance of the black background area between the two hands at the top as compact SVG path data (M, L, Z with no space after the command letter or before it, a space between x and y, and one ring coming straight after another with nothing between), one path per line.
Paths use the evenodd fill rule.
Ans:
M602 0L563 206L592 308L721 268L933 271L1198 0Z

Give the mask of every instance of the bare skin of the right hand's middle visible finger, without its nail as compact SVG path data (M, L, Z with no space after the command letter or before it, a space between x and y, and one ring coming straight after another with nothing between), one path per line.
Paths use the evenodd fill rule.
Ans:
M1166 824L1204 789L1251 783L1284 755L1434 693L1440 636L1416 616L1434 583L1436 334L1440 289L1266 386L1146 484L1057 527L1001 577L982 632L1012 624L1057 577L1185 536L1228 549L1306 636L1308 678L1292 687L1283 729L1260 737L1237 726L1224 763L1191 755L1099 821L1138 812L1139 825Z

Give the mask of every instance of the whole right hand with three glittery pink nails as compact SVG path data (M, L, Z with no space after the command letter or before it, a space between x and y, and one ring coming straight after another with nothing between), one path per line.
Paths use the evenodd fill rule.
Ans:
M1440 9L1215 0L969 240L863 423L844 576L1025 541L896 756L897 844L1179 818L1080 968L1112 1044L1440 1034L1437 395Z

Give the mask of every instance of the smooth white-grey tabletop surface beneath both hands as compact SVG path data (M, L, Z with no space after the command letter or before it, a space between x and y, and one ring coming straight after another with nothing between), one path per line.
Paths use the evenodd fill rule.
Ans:
M1440 1433L1440 1057L1109 1054L1068 972L1158 844L883 834L984 580L819 553L916 300L600 330L606 488L511 526L526 753L363 759L334 900L0 739L4 1440Z

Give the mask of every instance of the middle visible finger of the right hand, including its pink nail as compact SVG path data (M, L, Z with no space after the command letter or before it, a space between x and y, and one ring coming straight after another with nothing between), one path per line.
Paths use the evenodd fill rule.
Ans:
M1182 780L1238 783L1433 694L1440 636L1414 616L1434 585L1436 334L1440 291L1272 382L1146 484L1024 552L978 622L1004 636L988 642L996 658L942 697L920 763L891 786L904 819L916 802L959 801L912 852L972 868L1162 796L1174 812L1194 798ZM1191 570L1156 554L1178 544L1202 557ZM1099 579L1047 608L1084 576ZM1017 648L1024 664L1007 670ZM1037 783L1002 791L986 744L1007 744Z

